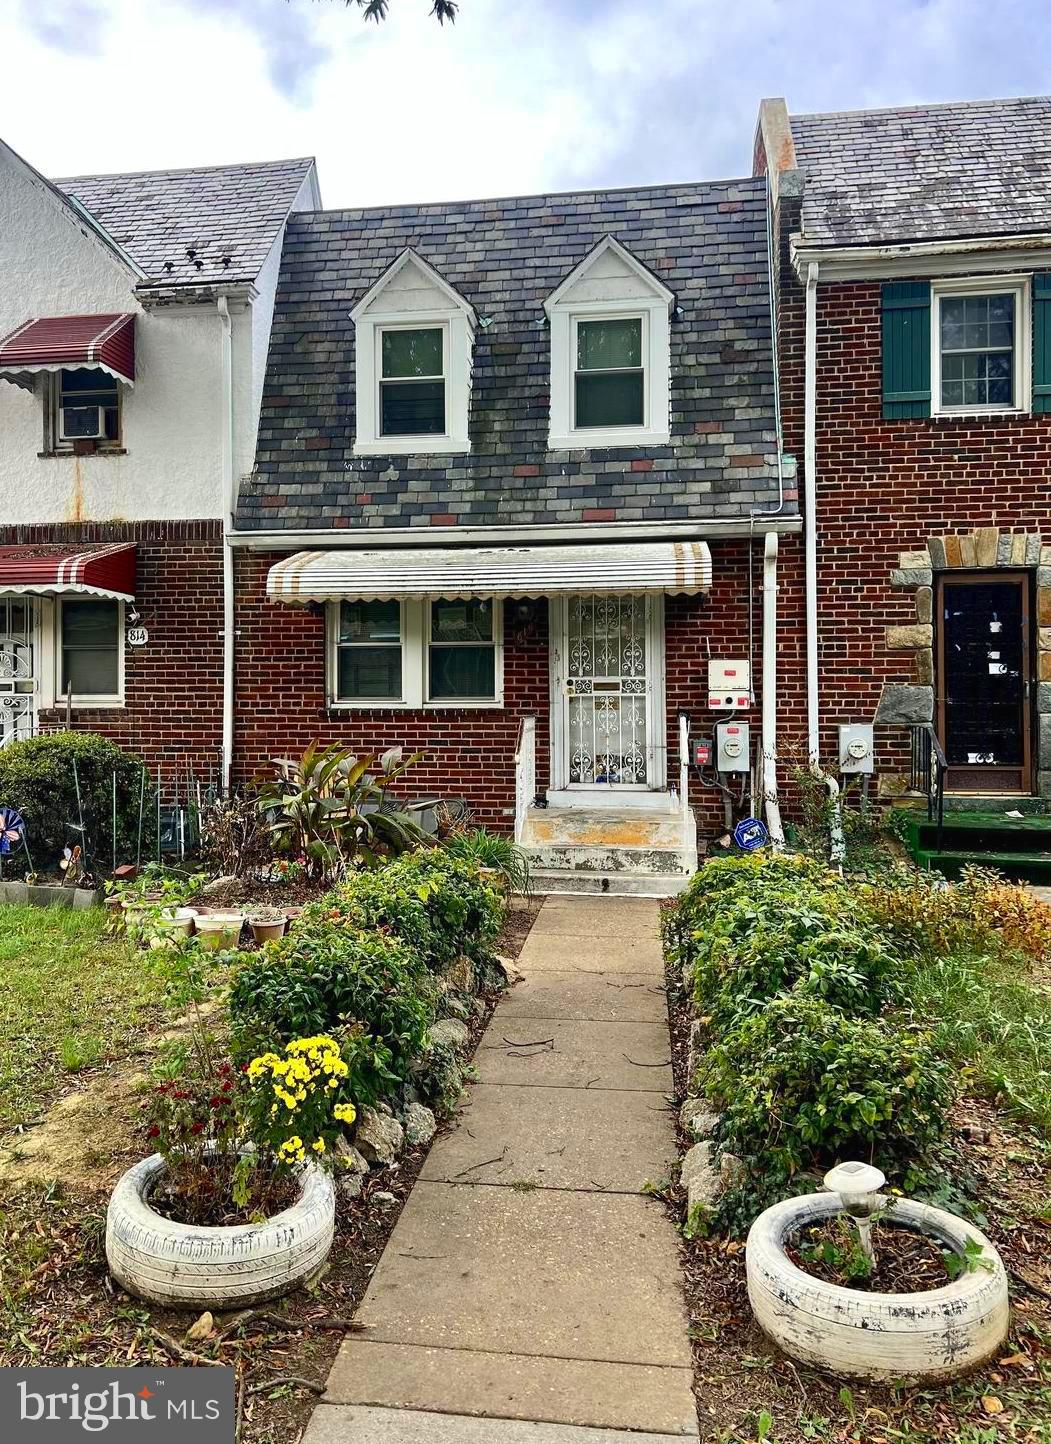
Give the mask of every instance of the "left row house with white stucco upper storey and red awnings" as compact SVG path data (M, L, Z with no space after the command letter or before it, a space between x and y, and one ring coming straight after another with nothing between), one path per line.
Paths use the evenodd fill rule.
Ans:
M0 143L0 745L69 723L166 790L230 771L224 531L318 204L309 159L48 180Z

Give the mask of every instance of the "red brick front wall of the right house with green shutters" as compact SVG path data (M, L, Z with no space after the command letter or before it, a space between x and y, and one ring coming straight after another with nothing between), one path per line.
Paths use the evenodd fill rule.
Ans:
M788 228L781 401L785 449L801 462L803 287L788 264ZM885 682L912 680L911 656L885 644L888 625L915 619L914 593L889 586L899 552L976 526L1051 539L1051 416L884 420L879 283L820 284L817 297L819 657L829 760L840 722L871 721ZM905 749L902 728L878 731L881 770L901 771Z

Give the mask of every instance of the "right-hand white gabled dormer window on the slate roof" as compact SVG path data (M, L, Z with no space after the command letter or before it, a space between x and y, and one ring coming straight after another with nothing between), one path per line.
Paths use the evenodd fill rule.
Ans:
M551 449L667 445L673 305L612 235L547 297Z

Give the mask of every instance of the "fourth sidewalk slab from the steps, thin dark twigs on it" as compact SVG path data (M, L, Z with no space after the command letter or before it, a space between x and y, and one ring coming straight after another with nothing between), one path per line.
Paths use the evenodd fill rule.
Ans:
M547 1044L547 1040L550 1045ZM537 1047L521 1047L536 1043ZM515 1044L520 1044L515 1047ZM663 1022L504 1018L500 1009L475 1054L479 1083L615 1087L671 1093L671 1044Z

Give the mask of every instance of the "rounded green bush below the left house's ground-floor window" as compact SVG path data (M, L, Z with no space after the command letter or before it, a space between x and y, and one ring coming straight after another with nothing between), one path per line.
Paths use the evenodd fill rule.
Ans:
M77 770L74 773L74 762ZM36 872L58 871L62 849L81 843L95 875L113 866L113 778L117 777L117 861L134 862L143 762L95 732L53 732L10 742L0 751L0 806L26 819ZM81 803L77 801L79 783ZM78 832L81 810L84 835ZM156 809L149 777L143 809L143 856L156 845ZM19 849L4 871L27 871Z

